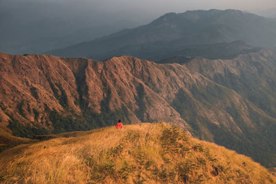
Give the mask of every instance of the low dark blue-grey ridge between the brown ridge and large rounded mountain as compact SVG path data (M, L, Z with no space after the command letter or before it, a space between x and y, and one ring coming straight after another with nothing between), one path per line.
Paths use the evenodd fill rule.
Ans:
M230 43L213 43L201 45L186 45L183 41L159 41L141 45L128 45L119 50L110 51L108 54L97 56L104 60L112 56L131 55L148 59L157 63L165 63L172 57L204 57L208 59L231 59L239 54L256 52L260 48L248 45L244 41ZM168 63L170 63L168 61Z

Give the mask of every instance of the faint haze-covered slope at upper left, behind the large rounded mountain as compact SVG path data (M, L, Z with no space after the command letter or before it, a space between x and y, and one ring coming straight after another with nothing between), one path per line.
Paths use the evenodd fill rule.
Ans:
M108 12L96 6L81 8L81 4L83 1L1 1L0 52L38 54L133 28L152 17L135 11Z

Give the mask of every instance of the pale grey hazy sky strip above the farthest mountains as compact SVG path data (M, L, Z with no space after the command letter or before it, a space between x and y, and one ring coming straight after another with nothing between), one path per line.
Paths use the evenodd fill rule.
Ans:
M197 9L238 9L260 11L276 8L275 0L0 0L0 3L44 2L61 3L63 6L75 6L77 10L144 10L147 12L184 12ZM0 4L1 5L1 4Z

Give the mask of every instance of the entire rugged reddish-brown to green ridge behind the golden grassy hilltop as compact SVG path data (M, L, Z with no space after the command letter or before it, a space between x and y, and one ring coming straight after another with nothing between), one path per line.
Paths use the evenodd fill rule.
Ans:
M0 120L17 136L124 123L177 123L276 165L276 52L159 64L0 54Z

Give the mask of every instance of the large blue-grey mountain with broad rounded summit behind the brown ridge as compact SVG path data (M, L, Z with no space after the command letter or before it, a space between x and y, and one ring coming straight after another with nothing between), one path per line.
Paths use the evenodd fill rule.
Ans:
M226 47L225 43L239 40L249 45L274 48L276 46L275 19L238 10L168 13L148 25L47 53L62 57L88 57L98 60L131 55L159 61L164 57L177 56L175 54L184 57L207 56L221 59L221 57L229 57L229 53L219 50L221 45L218 47L213 44L223 43L222 46ZM234 54L240 54L246 49L241 43L235 48ZM209 55L210 50L215 54Z

